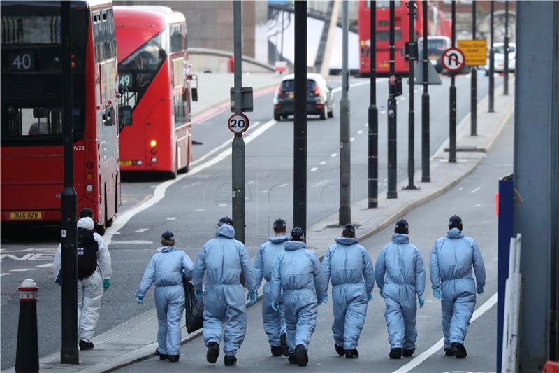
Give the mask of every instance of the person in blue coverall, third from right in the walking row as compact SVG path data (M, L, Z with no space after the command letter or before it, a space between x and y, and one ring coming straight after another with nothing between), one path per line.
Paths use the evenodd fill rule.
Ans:
M342 237L328 248L322 267L326 281L324 293L328 292L328 283L332 279L335 351L340 356L345 354L348 359L356 359L359 357L357 342L375 285L375 270L369 253L357 244L353 225L346 225Z

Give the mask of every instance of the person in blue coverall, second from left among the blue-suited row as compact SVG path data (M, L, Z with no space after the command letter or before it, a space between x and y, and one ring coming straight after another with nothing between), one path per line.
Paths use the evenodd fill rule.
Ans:
M202 286L204 273L205 290ZM235 355L247 331L247 307L245 290L240 283L241 273L249 290L248 299L254 303L257 293L247 248L235 239L233 220L221 218L217 223L215 239L202 246L194 267L196 296L204 297L203 336L208 347L208 363L217 361L223 335L224 363L237 364Z

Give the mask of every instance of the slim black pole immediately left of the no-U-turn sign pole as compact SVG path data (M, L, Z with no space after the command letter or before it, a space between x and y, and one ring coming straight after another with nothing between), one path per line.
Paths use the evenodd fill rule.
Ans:
M431 181L430 176L430 139L429 139L429 88L428 88L428 7L427 0L423 0L423 94L421 94L421 181L428 183Z

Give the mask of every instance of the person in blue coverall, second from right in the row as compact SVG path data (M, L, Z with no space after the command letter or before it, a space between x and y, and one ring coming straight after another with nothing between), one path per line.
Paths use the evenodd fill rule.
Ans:
M417 303L425 304L425 267L421 253L409 243L407 221L396 222L390 244L377 259L375 276L386 303L384 317L388 325L391 359L412 356L415 352Z

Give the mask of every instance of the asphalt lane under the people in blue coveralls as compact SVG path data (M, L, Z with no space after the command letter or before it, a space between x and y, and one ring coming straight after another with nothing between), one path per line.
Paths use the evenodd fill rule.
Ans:
M419 248L423 261L426 262L427 279L429 279L428 260L433 241L447 232L449 216L453 213L462 216L463 232L477 240L486 265L485 292L477 297L477 309L485 302L492 304L491 298L497 291L498 218L495 216L495 192L498 191L498 179L512 170L513 126L511 123L509 122L505 127L488 157L470 176L449 192L405 216L409 222L412 243ZM392 229L386 228L374 237L361 242L375 262L382 247L389 242ZM465 340L468 358L463 360L447 358L442 349L439 349L416 367L412 369L408 369L409 365L408 368L404 367L409 363L417 362L418 360L414 358L430 349L442 337L440 301L433 297L429 280L426 287L426 305L419 310L417 316L419 337L413 358L389 359L384 302L375 288L358 346L360 358L347 360L336 355L330 330L333 315L331 301L329 301L328 304L319 307L317 329L310 344L310 363L305 368L305 372L394 372L396 370L400 372L494 372L496 341L496 305L494 304L470 324ZM286 358L270 356L268 340L261 323L260 302L248 309L247 318L247 335L238 351L237 369L243 372L297 370L298 367L289 365ZM215 372L230 369L223 365L223 352L215 365L206 363L202 338L184 344L180 354L179 363L161 362L159 358L151 358L126 367L122 372Z

